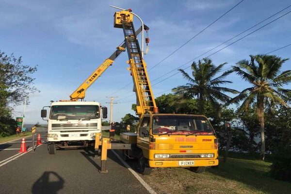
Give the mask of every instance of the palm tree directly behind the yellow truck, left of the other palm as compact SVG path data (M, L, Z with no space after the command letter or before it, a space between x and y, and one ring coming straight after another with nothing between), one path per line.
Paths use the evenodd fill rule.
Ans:
M220 87L221 84L232 83L231 81L224 80L232 70L225 71L222 75L214 78L224 65L226 65L226 63L215 66L208 58L202 61L199 60L198 64L193 62L191 65L193 78L183 69L179 69L183 77L187 79L189 83L173 88L173 92L182 94L185 98L197 97L200 114L204 114L206 100L208 100L216 110L219 110L220 102L227 102L231 99L231 97L225 94L226 92L232 94L239 93L233 89Z

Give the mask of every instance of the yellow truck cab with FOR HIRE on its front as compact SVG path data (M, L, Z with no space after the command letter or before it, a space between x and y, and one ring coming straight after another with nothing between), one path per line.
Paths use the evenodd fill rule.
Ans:
M215 131L202 115L144 114L137 147L142 174L149 174L151 167L190 167L201 173L218 165Z

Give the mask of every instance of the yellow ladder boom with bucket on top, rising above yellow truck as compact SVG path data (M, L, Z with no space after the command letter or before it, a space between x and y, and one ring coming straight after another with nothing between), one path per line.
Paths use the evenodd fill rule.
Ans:
M142 52L134 31L132 19L133 15L129 11L116 12L114 15L114 27L122 28L125 37L126 49L129 56L129 66L136 93L137 114L157 112L155 98L146 70L146 62L142 58Z

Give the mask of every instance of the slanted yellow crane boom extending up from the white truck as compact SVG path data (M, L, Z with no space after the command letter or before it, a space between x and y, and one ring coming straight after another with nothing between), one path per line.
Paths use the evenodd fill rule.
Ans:
M135 33L138 35L142 32L142 27L140 27ZM70 95L70 99L72 101L77 101L79 99L83 99L85 97L86 90L94 83L98 77L110 66L113 64L114 60L125 51L126 43L123 42L113 54L106 59L97 69Z

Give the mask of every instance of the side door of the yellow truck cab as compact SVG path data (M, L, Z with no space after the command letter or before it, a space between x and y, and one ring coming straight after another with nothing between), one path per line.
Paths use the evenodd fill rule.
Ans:
M137 146L143 150L144 156L148 155L148 144L149 144L149 125L150 117L143 116L141 118L138 135L137 135Z

